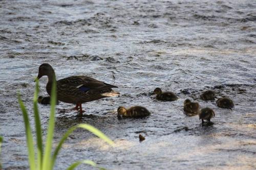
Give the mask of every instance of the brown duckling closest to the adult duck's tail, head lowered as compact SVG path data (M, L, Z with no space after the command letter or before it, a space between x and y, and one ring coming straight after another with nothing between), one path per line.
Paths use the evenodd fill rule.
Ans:
M117 109L117 113L118 113L117 114L118 117L120 117L120 115L124 117L143 117L151 114L146 108L142 106L134 106L134 107L131 107L130 109L126 109L120 106Z

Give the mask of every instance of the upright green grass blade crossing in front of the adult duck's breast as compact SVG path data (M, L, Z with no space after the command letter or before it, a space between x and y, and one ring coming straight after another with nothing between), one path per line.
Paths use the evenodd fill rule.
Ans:
M50 119L47 130L47 140L46 140L46 148L45 155L43 159L42 169L50 170L51 165L51 151L52 151L52 139L54 133L54 114L55 114L55 106L56 106L56 80L54 77L52 90L51 90L51 111L50 111Z

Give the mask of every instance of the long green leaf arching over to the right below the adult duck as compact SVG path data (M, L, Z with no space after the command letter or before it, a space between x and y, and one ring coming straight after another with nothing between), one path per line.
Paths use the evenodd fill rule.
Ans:
M114 145L114 142L108 138L106 135L104 135L101 131L99 131L97 128L94 128L93 126L91 125L88 125L88 124L79 124L79 125L76 125L76 126L73 126L71 127L61 138L61 140L59 141L54 153L53 153L53 156L52 156L52 168L54 166L54 163L55 163L55 160L57 158L57 155L59 153L59 150L61 149L61 146L62 144L65 142L65 140L69 137L69 135L77 128L83 128L83 129L86 129L90 132L92 132L93 134L95 134L96 136L98 136L99 138L103 139L104 141L108 142L110 145Z

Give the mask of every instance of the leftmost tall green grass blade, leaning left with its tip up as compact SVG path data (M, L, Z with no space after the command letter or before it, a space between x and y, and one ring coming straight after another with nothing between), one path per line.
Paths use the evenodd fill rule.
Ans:
M23 119L25 123L27 147L28 147L28 154L29 154L29 166L30 166L30 170L35 170L36 167L35 167L35 152L34 152L34 146L33 146L33 136L30 128L28 112L22 102L22 99L20 99L20 94L18 94L18 102L19 102L20 109L22 109Z

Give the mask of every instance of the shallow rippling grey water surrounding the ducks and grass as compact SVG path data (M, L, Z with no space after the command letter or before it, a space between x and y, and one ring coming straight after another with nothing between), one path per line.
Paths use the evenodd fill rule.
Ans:
M4 169L27 169L26 137L16 93L32 118L33 79L41 63L57 78L88 75L118 86L121 95L83 104L86 116L56 109L55 143L89 123L115 148L76 130L55 169L91 159L108 169L255 169L255 1L0 1L0 128ZM46 95L47 78L40 79ZM156 101L156 87L177 93ZM202 90L229 96L232 110L199 99ZM183 113L194 99L215 110L214 125ZM143 119L117 119L118 106L147 107ZM49 106L39 105L46 133ZM139 142L139 134L145 140ZM80 168L91 169L86 165Z

